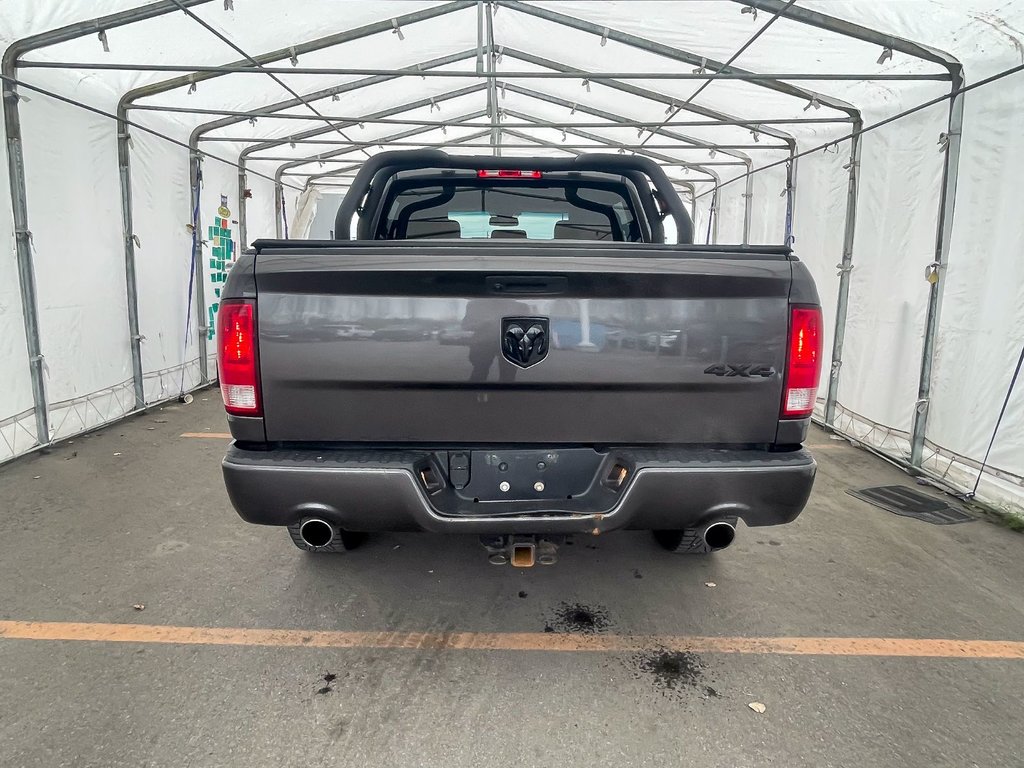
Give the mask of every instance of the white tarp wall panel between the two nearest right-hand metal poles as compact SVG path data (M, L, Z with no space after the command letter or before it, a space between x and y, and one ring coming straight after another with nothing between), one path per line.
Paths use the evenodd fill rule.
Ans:
M840 404L851 412L845 429L861 429L861 420L901 434L912 426L929 290L924 267L934 260L942 173L936 139L946 114L937 104L863 137L839 378Z

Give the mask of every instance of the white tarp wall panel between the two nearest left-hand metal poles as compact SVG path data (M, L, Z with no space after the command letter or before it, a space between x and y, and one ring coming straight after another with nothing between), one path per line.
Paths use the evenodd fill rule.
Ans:
M31 99L20 106L26 193L56 440L134 408L117 126L42 94Z

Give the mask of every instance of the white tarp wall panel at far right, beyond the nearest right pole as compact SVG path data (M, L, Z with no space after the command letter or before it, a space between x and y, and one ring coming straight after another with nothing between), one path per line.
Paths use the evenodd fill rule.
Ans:
M968 93L949 264L942 275L927 464L971 488L1024 345L1024 76ZM932 452L935 455L932 456ZM979 493L1001 506L1024 496L1024 381L1007 403Z

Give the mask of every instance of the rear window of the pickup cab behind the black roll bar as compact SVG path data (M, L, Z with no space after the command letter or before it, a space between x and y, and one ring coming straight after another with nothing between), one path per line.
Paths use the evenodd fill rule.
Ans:
M623 184L503 179L399 180L388 196L378 240L489 238L642 241Z

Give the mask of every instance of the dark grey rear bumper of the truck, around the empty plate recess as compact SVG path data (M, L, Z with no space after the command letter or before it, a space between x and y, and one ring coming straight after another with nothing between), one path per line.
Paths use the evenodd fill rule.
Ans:
M748 525L778 525L803 510L816 464L798 450L630 450L611 452L633 467L623 488L594 503L479 504L442 512L418 480L420 451L245 451L228 449L224 482L243 519L288 525L324 517L347 530L447 534L577 534L616 528L683 528L736 515ZM476 510L481 510L479 513Z

